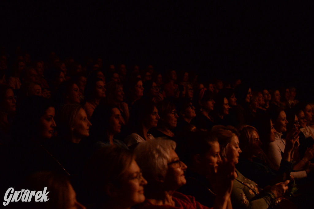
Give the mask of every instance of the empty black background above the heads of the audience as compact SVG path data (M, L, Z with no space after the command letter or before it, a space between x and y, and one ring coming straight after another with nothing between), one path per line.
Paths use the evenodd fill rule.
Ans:
M239 76L253 90L296 86L299 99L313 98L313 3L2 4L7 51Z

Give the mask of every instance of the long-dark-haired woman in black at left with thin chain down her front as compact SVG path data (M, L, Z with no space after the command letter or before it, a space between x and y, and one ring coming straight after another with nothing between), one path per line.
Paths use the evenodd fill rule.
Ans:
M12 145L0 146L2 184L14 187L23 177L40 170L65 172L62 165L51 154L49 141L53 137L56 123L52 103L40 96L30 96L20 104L11 127ZM65 172L66 173L66 172ZM8 186L8 187L7 187Z

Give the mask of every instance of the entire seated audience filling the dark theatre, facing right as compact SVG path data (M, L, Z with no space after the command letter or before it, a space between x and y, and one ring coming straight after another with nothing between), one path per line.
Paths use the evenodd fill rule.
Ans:
M314 205L314 104L295 87L33 59L0 56L1 194L50 199L8 207Z

